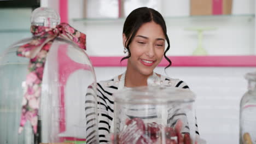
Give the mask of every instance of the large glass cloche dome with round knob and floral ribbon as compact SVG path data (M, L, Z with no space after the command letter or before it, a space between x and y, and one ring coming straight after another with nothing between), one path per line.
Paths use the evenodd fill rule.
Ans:
M49 8L37 8L31 15L31 26L50 29L59 23L59 14ZM78 37L82 35L74 29L71 31ZM48 36L34 34L21 40L10 46L0 59L0 143L85 143L88 87L93 97L86 106L97 111L94 68L80 45L61 37L32 50L34 56L30 58L17 56L20 47L37 43L35 39L39 37ZM91 123L95 123L97 131L97 115L94 119ZM20 134L19 130L22 130ZM94 139L98 141L95 134Z

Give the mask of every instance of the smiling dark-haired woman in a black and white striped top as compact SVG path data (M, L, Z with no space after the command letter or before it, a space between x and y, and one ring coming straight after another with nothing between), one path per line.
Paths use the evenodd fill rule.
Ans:
M165 50L165 41L167 48ZM124 52L127 52L127 68L124 74L118 75L107 81L97 83L98 110L101 115L98 116L98 133L100 143L109 142L109 133L113 129L114 100L113 93L124 87L147 86L149 76L155 75L160 79L160 85L179 88L189 88L186 83L178 79L171 79L160 74L154 73L155 67L162 61L162 58L169 62L166 52L170 49L170 43L167 36L166 24L161 14L151 8L138 8L133 10L127 16L123 28ZM167 68L166 67L166 68ZM92 89L88 89L88 93ZM87 97L91 97L87 94ZM86 109L87 114L90 109ZM179 116L177 115L177 119ZM90 143L94 131L90 130L91 124L87 124L87 143ZM197 127L197 126L196 126ZM195 133L199 134L198 131Z

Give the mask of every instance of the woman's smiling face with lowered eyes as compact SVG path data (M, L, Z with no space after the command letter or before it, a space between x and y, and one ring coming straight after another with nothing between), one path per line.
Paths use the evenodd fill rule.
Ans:
M126 37L123 35L124 44L125 41ZM129 48L131 57L128 59L128 67L143 75L152 74L164 56L165 34L162 27L153 21L144 23Z

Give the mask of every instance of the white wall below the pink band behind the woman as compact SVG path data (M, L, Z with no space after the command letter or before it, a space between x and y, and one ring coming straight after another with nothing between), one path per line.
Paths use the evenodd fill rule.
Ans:
M97 81L108 80L125 71L125 67L96 67ZM239 143L239 104L247 91L244 75L256 68L243 67L164 67L156 73L188 83L197 95L196 115L202 139L208 143Z

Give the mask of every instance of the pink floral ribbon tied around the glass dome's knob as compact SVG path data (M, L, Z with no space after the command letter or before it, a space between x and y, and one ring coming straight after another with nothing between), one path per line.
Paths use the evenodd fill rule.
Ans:
M28 65L29 72L26 77L25 92L22 99L19 133L21 133L27 120L31 122L34 133L37 133L44 64L54 39L61 37L72 40L81 49L86 50L86 35L69 26L67 23L61 23L55 28L31 26L31 33L34 37L30 43L20 46L17 51L18 56L30 58L30 64Z

